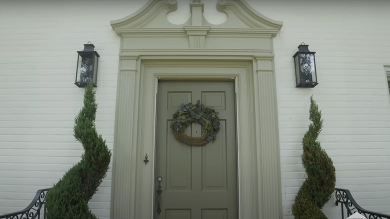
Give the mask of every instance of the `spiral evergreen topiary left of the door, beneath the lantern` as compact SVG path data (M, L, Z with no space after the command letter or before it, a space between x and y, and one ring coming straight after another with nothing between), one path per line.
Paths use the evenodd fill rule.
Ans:
M97 103L92 83L85 87L84 105L74 119L74 137L82 144L81 160L73 165L46 197L47 219L96 218L88 201L106 175L111 151L95 129Z

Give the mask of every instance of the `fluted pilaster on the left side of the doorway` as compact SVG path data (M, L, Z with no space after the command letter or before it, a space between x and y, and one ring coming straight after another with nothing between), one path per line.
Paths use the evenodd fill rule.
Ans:
M120 60L116 99L112 218L132 218L135 194L136 56Z

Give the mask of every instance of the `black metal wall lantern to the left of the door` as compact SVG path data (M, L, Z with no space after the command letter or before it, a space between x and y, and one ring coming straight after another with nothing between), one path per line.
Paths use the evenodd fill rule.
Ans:
M85 87L89 82L92 82L93 86L96 87L97 62L100 56L93 50L94 47L91 42L88 42L84 44L84 50L77 51L76 80L74 84L78 87Z

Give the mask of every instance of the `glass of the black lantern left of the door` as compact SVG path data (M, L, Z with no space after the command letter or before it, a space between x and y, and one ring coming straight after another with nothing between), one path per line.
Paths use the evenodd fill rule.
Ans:
M89 83L93 78L93 53L79 54L77 63L76 80L81 83Z

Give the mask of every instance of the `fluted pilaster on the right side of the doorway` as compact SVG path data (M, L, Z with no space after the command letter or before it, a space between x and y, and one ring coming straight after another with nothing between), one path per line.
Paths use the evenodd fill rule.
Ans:
M260 218L281 217L280 164L277 127L275 76L272 60L256 60L257 110L257 165L259 176Z

